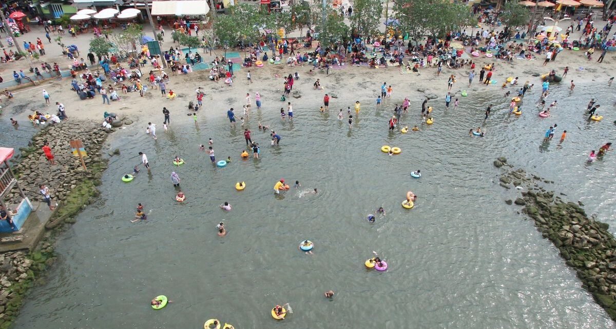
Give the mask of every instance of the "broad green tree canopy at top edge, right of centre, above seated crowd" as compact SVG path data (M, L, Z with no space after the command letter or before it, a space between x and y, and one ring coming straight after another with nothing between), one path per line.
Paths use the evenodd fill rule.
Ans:
M398 0L394 12L402 31L408 32L416 43L425 35L443 37L476 23L469 6L449 0Z

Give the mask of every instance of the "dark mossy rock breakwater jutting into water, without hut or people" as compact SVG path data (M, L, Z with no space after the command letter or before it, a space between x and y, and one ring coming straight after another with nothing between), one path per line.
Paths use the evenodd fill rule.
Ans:
M586 215L580 207L582 202L567 202L542 186L553 181L522 169L513 170L505 158L494 164L505 169L500 185L514 187L520 193L515 200L505 202L524 207L521 212L532 218L543 237L558 248L565 263L582 281L582 288L616 320L616 239L608 231L609 225Z

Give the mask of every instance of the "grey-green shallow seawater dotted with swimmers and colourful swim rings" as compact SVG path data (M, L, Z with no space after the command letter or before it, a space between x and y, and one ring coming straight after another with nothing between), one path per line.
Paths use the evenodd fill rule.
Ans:
M505 204L515 191L498 186L492 164L506 156L553 180L549 188L585 202L614 232L615 155L593 164L586 156L614 136L616 118L607 109L602 122L583 115L597 95L611 108L612 93L578 85L571 97L565 89L553 85L549 100L562 105L548 119L533 108L540 90L527 95L521 117L508 114L501 92L471 93L447 111L441 98L433 103L435 124L406 135L387 132L391 109L363 106L349 129L338 106L320 114L299 101L295 121L281 123L272 100L249 122L260 161L239 159L242 129L230 129L224 113L199 129L190 117L172 116L172 129L159 127L156 142L144 129L118 132L124 137L112 148L121 156L103 175L102 197L59 240L59 261L26 299L15 328L201 328L211 318L236 328L616 328L553 245ZM403 125L419 124L419 108L411 103ZM256 131L257 121L275 125L279 147ZM544 143L554 123L556 137ZM469 137L479 125L486 136ZM217 160L233 158L227 167L198 150L210 137ZM387 156L383 145L402 153ZM152 173L123 183L139 151ZM174 167L176 155L187 163ZM416 169L419 180L409 175ZM172 171L182 178L183 204L174 202ZM280 178L302 186L274 196ZM235 190L237 181L245 191ZM412 210L400 206L408 190L419 196ZM224 201L230 212L218 207ZM148 220L132 224L137 202ZM368 223L381 206L387 215ZM229 229L224 238L216 236L219 221ZM299 252L304 239L315 242L314 255ZM365 269L373 251L387 271ZM332 301L323 298L330 289ZM153 311L150 300L161 294L174 303ZM293 314L276 322L270 309L283 303Z

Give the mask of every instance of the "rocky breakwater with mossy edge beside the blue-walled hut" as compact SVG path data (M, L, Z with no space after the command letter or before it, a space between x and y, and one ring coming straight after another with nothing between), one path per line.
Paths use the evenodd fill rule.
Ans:
M30 253L9 252L0 255L0 329L6 329L17 316L23 294L34 283L43 280L43 271L55 260L53 243L62 232L63 223L74 223L79 211L94 202L99 195L96 186L101 184L107 161L100 153L110 131L87 122L67 121L45 127L34 135L30 146L21 148L21 154L12 159L15 175L26 196L33 202L43 200L39 185L46 184L53 201L59 206L46 224L49 230L43 240ZM79 157L71 153L69 141L81 140L86 149L84 170ZM49 143L55 155L55 165L49 164L41 147ZM118 152L116 152L119 154ZM20 201L14 189L10 203ZM41 207L47 207L41 204Z

